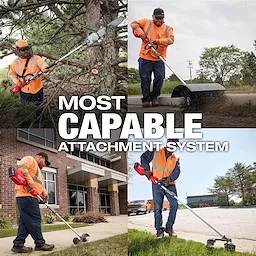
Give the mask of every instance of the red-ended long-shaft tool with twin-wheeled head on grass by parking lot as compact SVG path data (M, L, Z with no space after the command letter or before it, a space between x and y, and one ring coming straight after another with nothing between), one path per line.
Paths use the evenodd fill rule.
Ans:
M139 175L145 175L145 170L143 166L140 163L134 164L134 169ZM224 241L226 242L224 244L224 248L226 250L235 251L236 246L232 243L231 238L226 237L225 235L221 234L217 229L215 229L212 225L210 225L206 220L204 220L202 217L200 217L195 211L193 211L187 204L183 203L172 191L170 191L168 188L166 188L166 183L164 183L164 180L167 179L162 178L161 180L158 180L158 178L154 177L153 174L149 177L149 180L151 182L157 183L166 193L174 197L179 203L181 203L183 206L185 206L190 212L192 212L196 217L198 217L201 221L203 221L207 226L209 226L212 230L214 230L221 238L210 238L207 240L206 246L212 247L214 246L214 243L216 241Z

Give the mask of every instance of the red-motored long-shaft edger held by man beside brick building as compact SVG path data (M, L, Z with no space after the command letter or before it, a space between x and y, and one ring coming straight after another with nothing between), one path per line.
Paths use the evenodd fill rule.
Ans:
M27 185L27 181L21 171L19 171L15 167L9 167L8 172L9 172L9 178L15 184L21 185L21 186ZM36 190L34 190L34 192L36 192ZM49 209L54 215L56 215L59 219L61 219L79 237L79 238L74 237L74 239L73 239L74 244L83 243L83 242L88 241L87 238L89 237L89 235L87 233L79 235L53 208L51 208L48 205L48 203L44 202L44 199L38 194L38 192L37 192L37 194L33 194L33 195L37 196L37 198L46 205L47 209Z

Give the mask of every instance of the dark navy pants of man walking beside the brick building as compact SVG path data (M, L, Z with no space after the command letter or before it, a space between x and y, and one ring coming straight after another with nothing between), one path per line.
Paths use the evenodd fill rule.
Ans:
M36 246L41 247L45 240L41 231L41 214L36 198L21 196L16 198L20 218L17 237L13 240L13 247L23 247L27 236L30 234Z

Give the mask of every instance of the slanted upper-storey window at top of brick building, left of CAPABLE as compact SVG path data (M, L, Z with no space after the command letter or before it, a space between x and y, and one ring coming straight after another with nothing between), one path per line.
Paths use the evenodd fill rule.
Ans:
M18 137L46 146L55 148L54 145L54 130L52 128L34 129L22 128L18 129Z

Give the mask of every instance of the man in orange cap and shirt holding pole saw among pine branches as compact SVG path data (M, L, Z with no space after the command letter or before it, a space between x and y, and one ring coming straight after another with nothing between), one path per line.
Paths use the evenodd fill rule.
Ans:
M48 65L40 56L33 55L31 45L25 40L18 40L16 49L19 57L10 66L10 77L20 91L22 100L40 103L43 101L42 77L31 80L25 86L22 86L22 80L39 71L48 72Z

